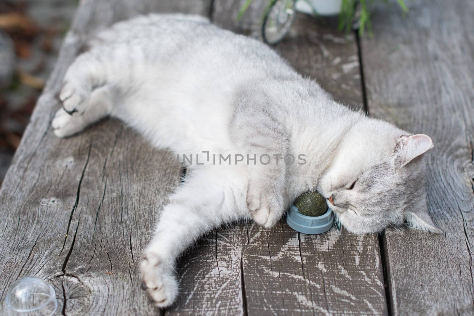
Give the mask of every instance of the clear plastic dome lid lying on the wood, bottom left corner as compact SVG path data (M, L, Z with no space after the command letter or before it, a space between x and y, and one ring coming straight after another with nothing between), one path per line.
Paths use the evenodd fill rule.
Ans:
M55 289L45 280L28 276L11 285L5 303L9 315L54 315L58 302Z

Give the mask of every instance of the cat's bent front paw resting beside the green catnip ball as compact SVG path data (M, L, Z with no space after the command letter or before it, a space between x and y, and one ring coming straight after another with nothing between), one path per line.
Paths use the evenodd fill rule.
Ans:
M283 197L274 192L249 190L247 207L255 222L265 228L273 227L283 215Z

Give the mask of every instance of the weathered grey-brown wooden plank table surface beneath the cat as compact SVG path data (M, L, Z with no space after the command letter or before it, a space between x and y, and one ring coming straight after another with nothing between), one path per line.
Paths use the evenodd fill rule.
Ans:
M140 255L182 168L120 122L56 138L67 66L89 34L140 13L210 17L258 35L265 0L82 0L0 190L0 298L26 275L55 288L57 315L474 314L474 2L377 7L374 36L298 15L275 49L335 99L435 143L428 206L444 235L407 229L304 235L240 223L183 254L181 294L165 310L138 280Z

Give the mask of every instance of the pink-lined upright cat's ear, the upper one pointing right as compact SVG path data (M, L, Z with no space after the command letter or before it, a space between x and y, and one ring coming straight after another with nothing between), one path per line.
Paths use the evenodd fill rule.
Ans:
M433 141L428 135L400 135L395 147L395 162L399 167L403 167L431 148Z

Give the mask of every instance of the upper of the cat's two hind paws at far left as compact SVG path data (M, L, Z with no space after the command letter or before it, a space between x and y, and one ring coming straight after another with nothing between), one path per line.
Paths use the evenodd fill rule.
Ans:
M86 110L91 90L74 82L64 81L63 88L59 93L59 99L63 103L64 110L72 115L75 112L83 114Z

